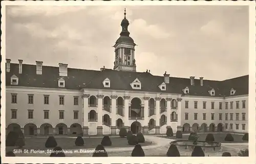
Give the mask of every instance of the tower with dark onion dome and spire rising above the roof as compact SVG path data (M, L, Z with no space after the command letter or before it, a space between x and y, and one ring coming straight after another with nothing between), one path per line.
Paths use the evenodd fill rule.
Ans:
M121 22L122 31L117 39L115 48L114 70L136 72L135 46L133 38L128 31L129 21L126 19L126 10L124 9L124 18Z

